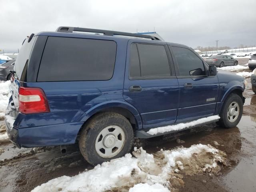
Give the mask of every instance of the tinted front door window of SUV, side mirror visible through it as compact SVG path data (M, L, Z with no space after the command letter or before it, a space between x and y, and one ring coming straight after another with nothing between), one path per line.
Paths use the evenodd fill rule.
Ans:
M180 76L205 75L204 64L196 54L183 47L172 46Z

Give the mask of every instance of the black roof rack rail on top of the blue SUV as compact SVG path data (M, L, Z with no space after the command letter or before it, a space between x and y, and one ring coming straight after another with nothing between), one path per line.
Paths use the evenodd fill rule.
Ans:
M142 35L136 33L126 33L126 32L118 32L118 31L108 31L108 30L100 30L100 29L88 29L88 28L80 28L80 27L58 27L56 32L66 32L72 33L73 31L76 32L89 32L89 33L101 33L106 36L130 36L130 37L138 37L138 38L147 38L151 40L160 40L157 37L150 36L150 35Z

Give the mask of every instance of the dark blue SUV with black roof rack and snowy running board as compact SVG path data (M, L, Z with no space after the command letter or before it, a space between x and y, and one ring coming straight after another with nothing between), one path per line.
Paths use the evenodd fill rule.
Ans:
M128 153L134 137L216 121L236 126L244 88L243 77L217 71L188 46L59 27L24 40L12 71L6 131L19 148L65 150L78 141L84 158L99 164Z

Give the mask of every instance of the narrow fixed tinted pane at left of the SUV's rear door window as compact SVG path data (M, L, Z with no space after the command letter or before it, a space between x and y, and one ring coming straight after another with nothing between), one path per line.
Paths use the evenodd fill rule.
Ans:
M130 77L140 77L140 60L136 44L130 50Z

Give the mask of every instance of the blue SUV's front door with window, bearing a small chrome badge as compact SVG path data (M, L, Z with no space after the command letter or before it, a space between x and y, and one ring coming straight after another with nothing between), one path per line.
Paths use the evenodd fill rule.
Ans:
M190 48L169 46L179 84L176 122L211 116L215 112L219 82L207 76L208 65Z

